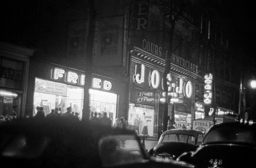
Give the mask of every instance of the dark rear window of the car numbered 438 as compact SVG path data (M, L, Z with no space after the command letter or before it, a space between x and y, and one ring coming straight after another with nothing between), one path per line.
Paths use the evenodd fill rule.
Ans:
M208 132L204 143L234 142L251 143L256 145L256 134L245 128L216 128Z

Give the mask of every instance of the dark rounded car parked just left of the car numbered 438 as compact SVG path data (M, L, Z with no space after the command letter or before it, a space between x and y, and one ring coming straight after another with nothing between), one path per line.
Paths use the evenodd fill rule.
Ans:
M204 132L195 129L171 129L163 132L157 145L148 150L153 157L176 160L186 151L195 151L201 145Z

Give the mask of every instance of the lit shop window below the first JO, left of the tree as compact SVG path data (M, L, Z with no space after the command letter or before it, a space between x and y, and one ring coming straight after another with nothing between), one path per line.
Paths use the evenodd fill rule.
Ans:
M128 122L139 134L153 136L154 107L130 103Z

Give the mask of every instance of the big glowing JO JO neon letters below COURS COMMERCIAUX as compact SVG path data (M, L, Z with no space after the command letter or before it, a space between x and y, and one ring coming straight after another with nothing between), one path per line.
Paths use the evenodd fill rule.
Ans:
M167 75L167 85L168 85L168 95L171 95L172 98L179 98L179 95L184 95L186 98L192 97L192 82L191 81L184 81L183 78L177 78L178 80L175 82L172 79L171 74ZM133 77L134 82L138 84L143 84L145 82L145 65L144 64L136 64L135 65L135 74ZM162 84L161 84L162 83ZM158 89L162 87L163 89L163 78L158 70L151 70L148 74L148 84L150 87L154 89ZM165 94L163 93L163 96Z

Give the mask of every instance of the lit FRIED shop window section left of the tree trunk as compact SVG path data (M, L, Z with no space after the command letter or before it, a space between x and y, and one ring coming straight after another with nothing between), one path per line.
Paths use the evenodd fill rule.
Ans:
M35 78L33 116L36 112L36 106L43 106L45 115L56 107L59 108L59 112L65 113L67 107L70 106L72 112L79 113L79 119L81 120L83 99L84 89L82 87Z

